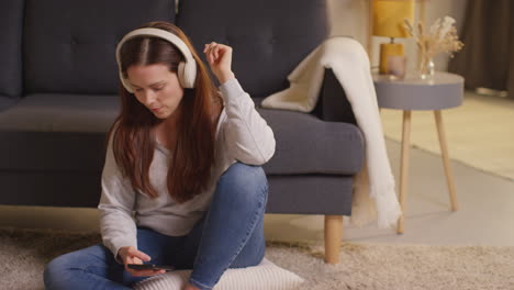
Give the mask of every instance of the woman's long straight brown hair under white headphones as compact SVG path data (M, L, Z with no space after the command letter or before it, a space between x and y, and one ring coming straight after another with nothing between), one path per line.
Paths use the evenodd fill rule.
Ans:
M155 27L174 33L182 40L197 62L194 89L185 89L179 104L181 113L177 122L177 143L167 174L168 192L177 202L182 203L199 194L206 188L211 167L214 163L216 88L208 75L191 42L186 34L171 23L149 22L142 27ZM148 36L136 36L124 43L120 52L122 74L133 65L163 64L177 74L178 64L183 56L171 43ZM158 192L150 185L149 167L156 145L154 129L163 120L157 119L147 108L141 104L120 81L121 113L114 121L112 149L116 164L127 177L134 189L157 198Z

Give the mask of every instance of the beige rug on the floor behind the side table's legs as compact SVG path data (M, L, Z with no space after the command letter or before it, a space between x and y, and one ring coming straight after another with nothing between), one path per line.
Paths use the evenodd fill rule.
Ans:
M381 110L388 138L401 141L402 112ZM451 159L514 180L514 101L466 92L461 107L443 111ZM434 113L413 111L411 144L440 154Z

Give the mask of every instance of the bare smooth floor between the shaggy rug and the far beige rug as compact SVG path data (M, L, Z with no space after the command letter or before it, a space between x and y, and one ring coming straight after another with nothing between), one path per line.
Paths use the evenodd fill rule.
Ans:
M393 172L400 143L388 141ZM345 220L343 241L355 243L514 246L514 181L451 161L459 210L450 211L439 156L411 149L405 233L376 225L355 227ZM267 215L267 238L323 241L323 216Z

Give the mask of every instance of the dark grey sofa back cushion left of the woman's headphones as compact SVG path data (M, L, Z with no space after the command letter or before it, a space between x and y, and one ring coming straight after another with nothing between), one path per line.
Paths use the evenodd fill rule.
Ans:
M26 0L25 90L116 93L118 42L128 31L157 20L175 21L175 1Z

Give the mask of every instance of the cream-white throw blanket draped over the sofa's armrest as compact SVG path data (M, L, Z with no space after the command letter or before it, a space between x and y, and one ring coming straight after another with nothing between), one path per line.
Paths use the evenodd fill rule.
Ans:
M267 97L261 104L264 108L311 112L320 94L325 68L334 71L344 88L366 143L365 166L354 179L350 220L357 225L375 219L379 227L395 225L401 209L386 150L369 59L360 43L349 37L327 38L288 76L289 89Z

